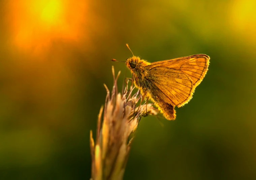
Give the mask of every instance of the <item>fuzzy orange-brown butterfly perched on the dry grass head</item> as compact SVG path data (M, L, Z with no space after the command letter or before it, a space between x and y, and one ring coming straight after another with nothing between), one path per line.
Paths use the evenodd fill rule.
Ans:
M205 76L210 57L205 54L149 63L133 56L126 60L132 81L143 97L149 97L168 120L174 120L174 107L192 98Z

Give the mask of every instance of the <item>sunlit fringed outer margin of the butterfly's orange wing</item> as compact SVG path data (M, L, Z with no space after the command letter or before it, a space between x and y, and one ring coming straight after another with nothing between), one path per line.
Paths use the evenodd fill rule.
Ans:
M190 57L193 57L193 56L203 56L205 57L206 59L206 63L205 63L205 67L203 69L203 72L201 74L201 77L198 79L198 81L192 86L191 88L191 91L190 91L190 95L189 97L183 101L182 103L178 104L177 107L180 108L182 106L184 106L185 104L187 104L191 99L192 99L192 96L193 96L193 93L195 92L195 88L202 82L206 72L208 71L208 67L209 67L209 64L210 64L210 57L205 55L205 54L195 54L195 55L192 55L192 56L187 56L187 57L183 57L183 58L190 58ZM177 58L177 59L180 59L180 58ZM189 77L189 76L188 76ZM190 78L190 77L189 77Z

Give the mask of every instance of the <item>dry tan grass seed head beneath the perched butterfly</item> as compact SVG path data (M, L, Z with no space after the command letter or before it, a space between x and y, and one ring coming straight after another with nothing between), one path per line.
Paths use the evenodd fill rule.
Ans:
M125 88L124 94L118 93L117 79L120 71L115 77L112 66L114 86L110 94L107 86L107 96L105 100L104 113L103 106L98 115L96 141L90 131L90 147L92 157L91 180L122 180L131 142L134 132L142 116L157 115L158 110L152 104L144 104L136 107L140 100L139 92L131 97L130 90ZM147 112L146 112L147 106ZM101 116L103 113L103 121Z

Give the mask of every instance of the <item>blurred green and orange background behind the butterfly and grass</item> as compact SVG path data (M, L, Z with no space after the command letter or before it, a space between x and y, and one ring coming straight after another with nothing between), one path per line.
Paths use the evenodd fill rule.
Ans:
M89 131L134 55L207 54L175 121L141 120L124 179L256 179L256 1L0 4L0 179L90 178ZM126 77L131 77L127 71Z

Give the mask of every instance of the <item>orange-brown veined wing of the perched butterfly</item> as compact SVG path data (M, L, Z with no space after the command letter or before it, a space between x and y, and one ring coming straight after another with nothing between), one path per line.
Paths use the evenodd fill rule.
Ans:
M205 76L210 57L197 54L177 59L158 61L145 67L151 82L159 89L160 97L167 97L178 107L188 103L195 87Z

